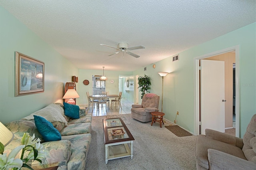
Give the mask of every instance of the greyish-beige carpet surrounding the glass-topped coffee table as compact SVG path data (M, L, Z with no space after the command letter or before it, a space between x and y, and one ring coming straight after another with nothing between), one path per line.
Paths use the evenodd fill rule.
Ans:
M196 170L196 136L178 137L159 123L141 123L123 115L134 137L133 158L118 158L105 163L102 119L92 117L92 141L86 170Z

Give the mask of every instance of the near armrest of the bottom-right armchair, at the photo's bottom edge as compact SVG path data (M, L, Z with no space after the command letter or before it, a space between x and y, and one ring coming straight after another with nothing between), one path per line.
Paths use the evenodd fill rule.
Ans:
M208 149L208 160L210 170L253 170L256 167L254 162L214 149Z

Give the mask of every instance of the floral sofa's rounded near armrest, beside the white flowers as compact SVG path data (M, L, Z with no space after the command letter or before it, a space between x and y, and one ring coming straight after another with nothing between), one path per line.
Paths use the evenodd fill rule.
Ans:
M69 140L58 140L42 143L44 154L40 156L42 163L32 162L33 169L49 168L59 166L67 169L67 163L71 156L71 142Z

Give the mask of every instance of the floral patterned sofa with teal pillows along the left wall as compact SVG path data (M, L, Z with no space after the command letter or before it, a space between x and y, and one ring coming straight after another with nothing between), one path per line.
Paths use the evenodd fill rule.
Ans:
M33 115L44 117L60 132L61 140L45 142L38 132ZM33 169L58 166L58 169L74 170L85 169L86 157L91 142L92 115L86 113L85 108L79 109L79 119L71 119L64 115L64 107L61 103L50 104L47 107L32 113L28 117L6 124L13 132L14 139L5 147L7 154L19 146L24 132L30 136L42 140L44 145L44 158L42 164L38 161L30 162ZM17 155L20 158L20 153Z

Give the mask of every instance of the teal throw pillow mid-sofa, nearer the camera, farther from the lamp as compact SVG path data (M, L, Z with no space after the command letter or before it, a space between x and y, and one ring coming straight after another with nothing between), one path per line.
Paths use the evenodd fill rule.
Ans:
M53 127L52 123L36 115L34 115L34 121L38 132L43 136L46 142L61 140L60 132Z

